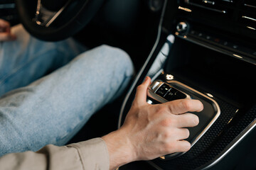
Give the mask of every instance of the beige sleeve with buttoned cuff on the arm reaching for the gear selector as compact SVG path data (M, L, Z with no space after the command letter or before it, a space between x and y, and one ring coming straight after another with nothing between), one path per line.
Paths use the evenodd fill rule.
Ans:
M0 169L85 170L109 169L107 146L101 138L63 147L47 145L38 152L6 154L0 158Z

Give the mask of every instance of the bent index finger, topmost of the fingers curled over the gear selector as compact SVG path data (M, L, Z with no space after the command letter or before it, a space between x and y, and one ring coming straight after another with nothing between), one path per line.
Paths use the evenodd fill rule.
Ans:
M195 99L180 99L164 103L173 114L203 111L203 103Z

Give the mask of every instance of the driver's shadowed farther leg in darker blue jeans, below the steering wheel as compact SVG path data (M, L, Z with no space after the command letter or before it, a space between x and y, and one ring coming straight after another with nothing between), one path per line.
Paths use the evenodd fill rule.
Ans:
M21 25L11 31L17 40L0 42L0 96L70 62L85 51L73 39L45 42L33 38Z

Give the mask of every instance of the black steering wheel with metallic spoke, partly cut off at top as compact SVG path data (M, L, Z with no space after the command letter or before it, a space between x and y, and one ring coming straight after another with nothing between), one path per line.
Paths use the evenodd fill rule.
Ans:
M16 0L21 23L41 40L57 41L78 33L104 0Z

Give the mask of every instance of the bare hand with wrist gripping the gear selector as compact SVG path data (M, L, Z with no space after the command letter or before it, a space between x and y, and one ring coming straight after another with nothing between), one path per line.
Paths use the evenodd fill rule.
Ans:
M132 108L124 125L102 137L110 154L110 169L137 160L149 160L174 152L186 152L191 144L187 127L198 125L198 116L188 112L203 110L200 101L182 99L150 105L146 91L151 80L146 77L137 87Z

